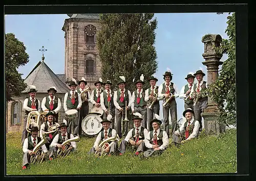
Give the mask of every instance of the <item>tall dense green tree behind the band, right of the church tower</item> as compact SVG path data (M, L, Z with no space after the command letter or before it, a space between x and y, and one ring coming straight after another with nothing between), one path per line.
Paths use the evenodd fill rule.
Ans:
M147 79L158 67L154 46L157 20L153 17L152 13L100 14L97 47L103 81L116 86L119 76L125 76L126 88L134 90L133 79L137 81L143 74L144 88L149 87Z

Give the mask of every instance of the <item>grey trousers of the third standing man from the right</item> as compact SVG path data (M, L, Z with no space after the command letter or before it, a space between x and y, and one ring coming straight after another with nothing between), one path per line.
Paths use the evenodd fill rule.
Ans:
M171 100L169 106L163 107L163 121L164 131L167 133L169 138L169 111L170 117L172 118L172 135L176 131L177 122L177 103L176 100Z

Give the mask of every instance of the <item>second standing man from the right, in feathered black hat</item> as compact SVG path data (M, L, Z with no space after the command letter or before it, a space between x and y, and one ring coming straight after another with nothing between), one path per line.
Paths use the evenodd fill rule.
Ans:
M185 79L187 80L187 83L185 86L182 87L181 91L180 91L180 98L184 99L184 108L185 110L187 108L191 108L192 110L193 108L193 99L191 97L189 97L189 94L191 92L191 90L194 87L194 79L196 76L193 75L193 72L189 72L187 74L187 77L185 77Z

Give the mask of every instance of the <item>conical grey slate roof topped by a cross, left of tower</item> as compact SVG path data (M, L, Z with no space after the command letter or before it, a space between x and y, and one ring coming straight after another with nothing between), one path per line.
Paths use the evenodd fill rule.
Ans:
M57 93L66 93L70 90L44 61L37 63L24 82L27 85L34 85L38 90L37 92L45 93L52 86L56 87ZM27 86L23 92L28 92L29 89L30 87Z

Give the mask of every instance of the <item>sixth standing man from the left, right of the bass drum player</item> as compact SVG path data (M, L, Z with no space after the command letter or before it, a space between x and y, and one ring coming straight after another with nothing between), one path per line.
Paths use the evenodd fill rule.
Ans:
M101 108L103 109L103 117L106 118L108 116L109 111L114 119L111 125L111 128L115 127L115 105L114 105L114 91L110 89L112 86L112 83L110 80L106 80L105 83L103 83L103 86L105 86L105 90L100 94L100 105Z

